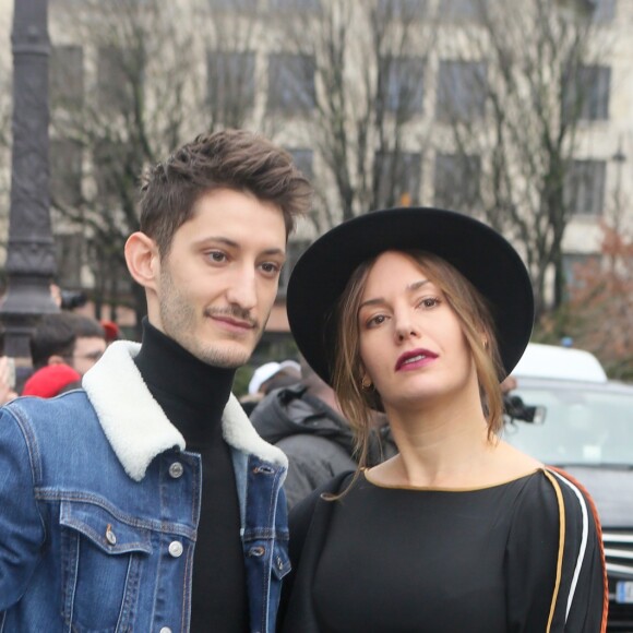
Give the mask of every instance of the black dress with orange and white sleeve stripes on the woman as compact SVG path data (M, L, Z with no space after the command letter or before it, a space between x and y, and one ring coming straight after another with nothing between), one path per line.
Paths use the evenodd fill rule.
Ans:
M344 489L341 478L331 489ZM596 633L602 549L593 507L550 470L468 490L384 488L290 515L282 630Z

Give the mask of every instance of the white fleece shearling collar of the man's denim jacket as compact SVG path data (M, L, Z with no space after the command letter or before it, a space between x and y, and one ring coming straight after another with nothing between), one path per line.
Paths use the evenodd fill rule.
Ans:
M167 419L134 363L140 349L139 343L112 343L82 381L108 442L135 481L143 479L158 454L175 447L184 450L184 439ZM232 394L224 409L222 430L227 444L237 451L288 466L286 455L258 435Z

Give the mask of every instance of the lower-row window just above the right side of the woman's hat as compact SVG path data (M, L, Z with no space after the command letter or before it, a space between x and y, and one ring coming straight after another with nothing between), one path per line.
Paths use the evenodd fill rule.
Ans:
M467 212L479 201L479 156L438 154L433 180L434 203L442 208Z

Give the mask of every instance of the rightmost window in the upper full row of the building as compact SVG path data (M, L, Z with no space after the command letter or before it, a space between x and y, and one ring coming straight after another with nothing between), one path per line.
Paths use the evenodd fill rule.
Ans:
M581 67L564 85L563 112L568 119L586 121L609 118L611 69L602 65Z

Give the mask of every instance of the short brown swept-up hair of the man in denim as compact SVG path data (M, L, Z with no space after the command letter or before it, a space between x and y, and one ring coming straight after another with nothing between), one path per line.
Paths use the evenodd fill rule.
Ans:
M158 244L162 258L199 199L222 188L278 205L287 236L312 202L312 187L291 156L266 139L246 130L200 135L144 178L140 228Z

